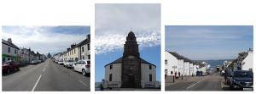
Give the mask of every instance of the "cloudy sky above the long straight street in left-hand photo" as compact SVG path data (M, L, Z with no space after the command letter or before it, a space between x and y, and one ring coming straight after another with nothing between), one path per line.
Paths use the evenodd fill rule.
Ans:
M17 47L31 48L35 53L67 51L73 43L79 44L90 34L90 25L2 25L2 39Z

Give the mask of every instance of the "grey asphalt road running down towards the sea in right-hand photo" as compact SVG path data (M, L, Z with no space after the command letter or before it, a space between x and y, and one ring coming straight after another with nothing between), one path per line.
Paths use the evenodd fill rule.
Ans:
M195 76L172 86L165 86L164 91L223 91L220 75L214 71L213 69L211 75Z

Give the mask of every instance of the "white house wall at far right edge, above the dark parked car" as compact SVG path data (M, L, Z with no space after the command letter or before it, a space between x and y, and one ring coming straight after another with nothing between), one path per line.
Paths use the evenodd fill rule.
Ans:
M245 64L242 64L245 62ZM253 69L253 51L248 51L247 57L241 62L241 70Z

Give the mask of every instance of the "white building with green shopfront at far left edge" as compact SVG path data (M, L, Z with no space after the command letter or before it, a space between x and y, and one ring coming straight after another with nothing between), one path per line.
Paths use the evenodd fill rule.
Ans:
M20 48L12 43L11 38L8 41L2 39L2 61L5 60L18 60L17 56Z

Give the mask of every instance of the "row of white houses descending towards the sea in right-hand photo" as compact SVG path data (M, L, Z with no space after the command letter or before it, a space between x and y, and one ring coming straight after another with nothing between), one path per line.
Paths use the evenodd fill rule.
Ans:
M171 71L173 71L173 74L177 71L181 75L196 75L197 70L206 72L209 68L210 64L205 62L192 61L176 52L164 52L164 70L166 70L166 75L171 75Z

